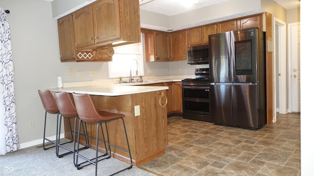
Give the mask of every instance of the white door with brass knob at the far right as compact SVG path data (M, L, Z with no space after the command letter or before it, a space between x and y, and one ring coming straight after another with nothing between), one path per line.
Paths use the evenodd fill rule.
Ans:
M300 112L300 23L289 24L289 57L291 61L291 111Z

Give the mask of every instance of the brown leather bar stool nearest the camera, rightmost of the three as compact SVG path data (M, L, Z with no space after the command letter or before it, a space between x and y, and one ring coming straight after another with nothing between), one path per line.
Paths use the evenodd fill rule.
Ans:
M78 131L80 131L80 127L81 127L83 122L85 124L85 127L86 127L86 123L97 124L96 138L88 136L88 138L96 140L96 157L93 158L93 159L88 159L88 158L82 156L81 154L79 154L79 152L77 152L76 153L76 155L77 155L77 157L76 157L77 168L81 169L81 168L83 168L83 167L85 167L87 165L94 164L95 167L96 167L95 175L97 176L97 163L98 163L98 161L110 158L111 157L111 149L110 149L110 147L115 147L117 149L120 149L120 150L125 151L125 152L130 154L130 162L131 162L131 164L130 164L129 167L127 167L125 169L122 169L122 170L112 174L111 176L113 176L115 174L118 174L118 173L120 173L122 171L125 171L127 169L131 169L132 168L132 158L131 158L131 151L130 151L130 145L129 145L128 135L127 135L127 130L126 130L126 126L125 126L125 123L124 123L125 115L124 114L119 114L119 113L112 113L112 112L108 112L108 111L103 111L103 110L96 110L95 106L94 106L94 103L93 103L93 101L92 101L92 99L91 99L89 94L77 94L77 93L73 92L72 95L73 95L73 98L74 98L74 102L75 102L75 105L76 105L76 108L77 108L77 112L78 112L78 117L79 117ZM125 132L125 135L126 135L128 150L123 149L121 147L118 147L118 146L116 146L114 144L111 144L110 141L109 141L107 122L113 121L113 120L118 120L118 119L121 119L122 122L123 122L123 127L124 127L124 132ZM104 142L104 144L105 144L104 130L103 130L103 126L102 126L103 123L105 123L105 128L106 128L106 133L107 133L109 155L106 156L108 151L105 149L106 153L101 155L101 156L106 156L106 157L102 158L102 159L98 159L99 157L101 157L101 156L98 156L98 142L101 141L101 142ZM102 135L103 135L103 139L104 140L100 140L99 139L99 128L101 128L101 130L102 130ZM79 140L79 135L80 134L78 133L78 140ZM105 146L106 146L106 144L105 144ZM78 164L78 157L83 158L86 161ZM93 160L95 160L95 161L93 161ZM84 166L81 166L81 164L86 163L86 162L89 162L89 163L84 165Z

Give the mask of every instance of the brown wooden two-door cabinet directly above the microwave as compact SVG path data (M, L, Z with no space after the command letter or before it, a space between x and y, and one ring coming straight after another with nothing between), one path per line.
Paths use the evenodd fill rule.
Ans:
M188 46L208 44L208 36L216 34L216 24L209 24L188 29Z

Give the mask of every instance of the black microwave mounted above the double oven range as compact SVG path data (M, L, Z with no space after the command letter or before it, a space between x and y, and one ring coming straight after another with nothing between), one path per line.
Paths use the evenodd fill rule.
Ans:
M187 47L187 64L209 64L209 45Z

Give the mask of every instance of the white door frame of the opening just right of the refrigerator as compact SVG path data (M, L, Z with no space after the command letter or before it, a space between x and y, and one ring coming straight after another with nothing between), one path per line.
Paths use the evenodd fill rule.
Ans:
M278 26L278 36L276 36L276 28L275 26ZM277 18L274 17L274 53L273 58L276 58L276 55L278 55L278 73L281 74L280 79L276 80L276 62L275 59L273 60L273 79L274 79L274 110L276 110L276 97L277 94L279 96L279 113L286 114L288 113L287 110L287 35L286 35L286 22L283 22ZM278 38L278 41L276 40ZM278 43L278 46L277 46ZM278 47L278 48L276 48ZM278 52L278 54L277 54ZM276 86L279 86L279 92L276 92ZM277 111L277 110L276 110ZM275 111L275 113L276 113ZM273 122L276 121L276 118L273 119Z

